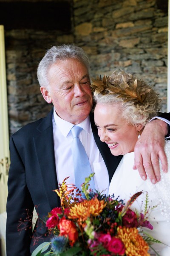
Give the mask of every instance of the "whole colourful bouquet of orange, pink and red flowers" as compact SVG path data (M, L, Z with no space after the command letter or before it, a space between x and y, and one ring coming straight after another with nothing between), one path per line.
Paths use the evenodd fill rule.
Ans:
M67 185L66 179L55 190L61 206L51 210L46 220L48 231L53 234L50 242L37 247L32 256L149 256L148 242L159 242L140 232L141 227L153 229L144 213L130 209L142 192L134 194L123 204L89 189L85 179L82 192L74 185Z

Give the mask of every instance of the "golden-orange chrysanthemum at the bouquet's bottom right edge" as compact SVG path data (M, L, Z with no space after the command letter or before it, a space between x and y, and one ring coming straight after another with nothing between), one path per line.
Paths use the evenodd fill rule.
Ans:
M136 228L118 227L117 237L124 243L127 256L150 256L148 253L149 246L142 236L139 235Z

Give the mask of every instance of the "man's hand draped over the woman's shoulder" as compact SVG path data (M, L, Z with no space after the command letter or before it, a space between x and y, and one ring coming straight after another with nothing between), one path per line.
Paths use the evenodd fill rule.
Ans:
M133 169L138 169L143 180L147 179L148 175L153 184L161 180L159 159L161 160L162 170L165 173L167 172L167 157L164 152L164 136L166 134L166 122L159 119L150 121L144 127L134 149Z

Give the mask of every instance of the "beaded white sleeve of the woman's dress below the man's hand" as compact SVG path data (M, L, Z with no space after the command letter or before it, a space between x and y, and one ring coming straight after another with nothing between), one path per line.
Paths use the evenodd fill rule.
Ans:
M161 214L164 215L166 220L170 222L170 141L165 141L165 153L168 161L168 172L165 174L161 168L161 162L159 161L161 171L161 181L153 185L151 182L151 190L156 197L158 207L161 209Z

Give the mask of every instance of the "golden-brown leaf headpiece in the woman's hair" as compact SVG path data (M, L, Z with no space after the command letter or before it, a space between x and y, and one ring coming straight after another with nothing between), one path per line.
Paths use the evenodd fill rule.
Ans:
M91 88L96 94L117 94L116 97L122 98L123 102L132 101L134 104L141 104L145 102L145 98L147 97L148 93L150 93L151 88L146 88L146 86L138 86L137 87L137 79L132 83L131 81L129 84L122 80L122 82L109 82L109 78L106 75L103 79L97 76L96 79L92 79Z

